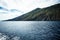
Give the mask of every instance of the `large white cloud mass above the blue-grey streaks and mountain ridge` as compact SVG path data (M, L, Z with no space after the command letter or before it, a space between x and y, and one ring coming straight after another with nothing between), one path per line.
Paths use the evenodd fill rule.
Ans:
M60 0L0 0L0 5L8 9L18 9L28 12L37 7L44 8L59 2Z

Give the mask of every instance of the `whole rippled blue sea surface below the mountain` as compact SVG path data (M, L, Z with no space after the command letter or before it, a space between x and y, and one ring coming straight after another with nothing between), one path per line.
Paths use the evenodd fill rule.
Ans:
M59 32L59 21L0 22L0 39L3 40L59 40Z

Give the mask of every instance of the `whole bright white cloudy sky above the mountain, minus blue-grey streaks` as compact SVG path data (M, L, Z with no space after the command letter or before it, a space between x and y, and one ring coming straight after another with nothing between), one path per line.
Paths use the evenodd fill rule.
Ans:
M5 12L6 10L0 10L0 20L11 19L21 14L27 13L35 8L45 8L51 5L60 3L60 0L0 0L0 6L8 9L17 9L23 13L15 13L15 12ZM2 12L1 12L2 11ZM3 14L2 14L3 13ZM13 13L13 14L12 14ZM1 18L1 16L3 16Z

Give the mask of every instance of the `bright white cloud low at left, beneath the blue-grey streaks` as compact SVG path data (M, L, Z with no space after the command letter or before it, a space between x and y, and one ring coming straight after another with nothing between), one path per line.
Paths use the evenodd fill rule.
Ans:
M12 19L15 18L17 16L22 15L23 13L20 12L4 12L0 14L0 20L7 20L7 19Z

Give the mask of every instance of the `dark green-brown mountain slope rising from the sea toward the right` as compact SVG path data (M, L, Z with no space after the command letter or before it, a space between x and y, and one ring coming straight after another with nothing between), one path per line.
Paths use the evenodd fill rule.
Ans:
M22 16L6 21L60 21L60 4L47 8L36 8Z

